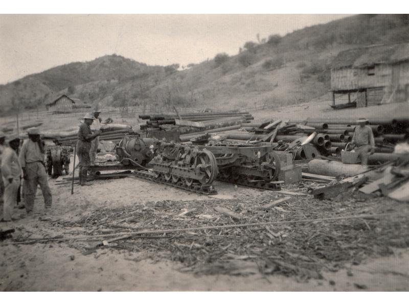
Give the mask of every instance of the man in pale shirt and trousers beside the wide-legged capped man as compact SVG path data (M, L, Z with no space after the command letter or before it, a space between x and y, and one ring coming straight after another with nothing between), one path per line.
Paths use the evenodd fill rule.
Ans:
M10 136L8 139L9 146L5 147L2 154L2 180L5 186L3 195L3 219L2 221L11 221L13 208L17 204L17 191L20 186L21 167L16 154L20 145L18 136Z

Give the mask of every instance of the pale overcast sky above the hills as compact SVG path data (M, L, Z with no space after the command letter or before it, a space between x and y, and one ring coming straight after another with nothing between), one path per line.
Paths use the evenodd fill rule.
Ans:
M248 40L348 15L0 15L0 84L116 53L149 65L199 63Z

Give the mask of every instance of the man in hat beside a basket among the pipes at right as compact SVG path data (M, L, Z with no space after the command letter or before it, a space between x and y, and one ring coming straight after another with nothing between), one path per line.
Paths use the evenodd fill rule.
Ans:
M361 165L368 165L368 152L374 154L375 152L375 139L372 129L366 126L367 119L359 118L356 122L359 124L355 127L354 136L351 143L355 145L355 152L359 153L361 158Z

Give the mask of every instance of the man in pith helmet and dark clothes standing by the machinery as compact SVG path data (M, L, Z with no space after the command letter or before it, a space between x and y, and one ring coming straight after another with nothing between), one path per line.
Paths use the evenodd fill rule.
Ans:
M81 124L78 131L78 141L77 141L77 154L79 159L79 183L81 186L89 186L91 183L87 183L86 176L88 173L88 168L90 166L90 149L91 142L93 139L101 134L101 130L93 133L91 131L90 125L95 120L95 117L86 114L84 117L84 123Z

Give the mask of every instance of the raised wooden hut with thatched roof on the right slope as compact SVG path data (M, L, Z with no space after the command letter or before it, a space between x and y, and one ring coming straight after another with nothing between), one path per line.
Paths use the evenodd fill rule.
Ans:
M409 101L409 42L340 52L331 64L332 105L336 94L356 93L356 106Z

